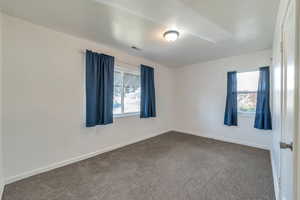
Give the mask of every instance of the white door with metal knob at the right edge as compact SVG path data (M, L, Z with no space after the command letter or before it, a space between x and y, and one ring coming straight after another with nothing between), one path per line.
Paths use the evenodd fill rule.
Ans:
M280 197L293 200L294 153L293 142L296 131L296 65L295 65L295 2L291 0L282 24L282 135L280 158Z

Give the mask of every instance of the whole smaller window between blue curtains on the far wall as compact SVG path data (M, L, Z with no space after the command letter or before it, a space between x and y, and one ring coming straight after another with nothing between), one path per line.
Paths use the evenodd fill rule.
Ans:
M237 102L238 112L254 114L259 71L237 73Z

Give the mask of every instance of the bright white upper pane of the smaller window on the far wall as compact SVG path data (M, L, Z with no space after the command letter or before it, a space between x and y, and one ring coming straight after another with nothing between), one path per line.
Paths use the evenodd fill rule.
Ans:
M237 73L238 91L256 92L258 88L259 71Z

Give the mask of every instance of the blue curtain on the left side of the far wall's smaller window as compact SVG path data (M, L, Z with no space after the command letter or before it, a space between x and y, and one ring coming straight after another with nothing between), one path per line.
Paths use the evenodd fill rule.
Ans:
M227 73L227 97L224 124L237 126L237 76L236 72Z

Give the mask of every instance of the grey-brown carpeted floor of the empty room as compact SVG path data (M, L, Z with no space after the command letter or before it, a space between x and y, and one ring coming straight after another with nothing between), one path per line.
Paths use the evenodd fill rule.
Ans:
M4 200L274 200L268 151L166 133L5 187Z

